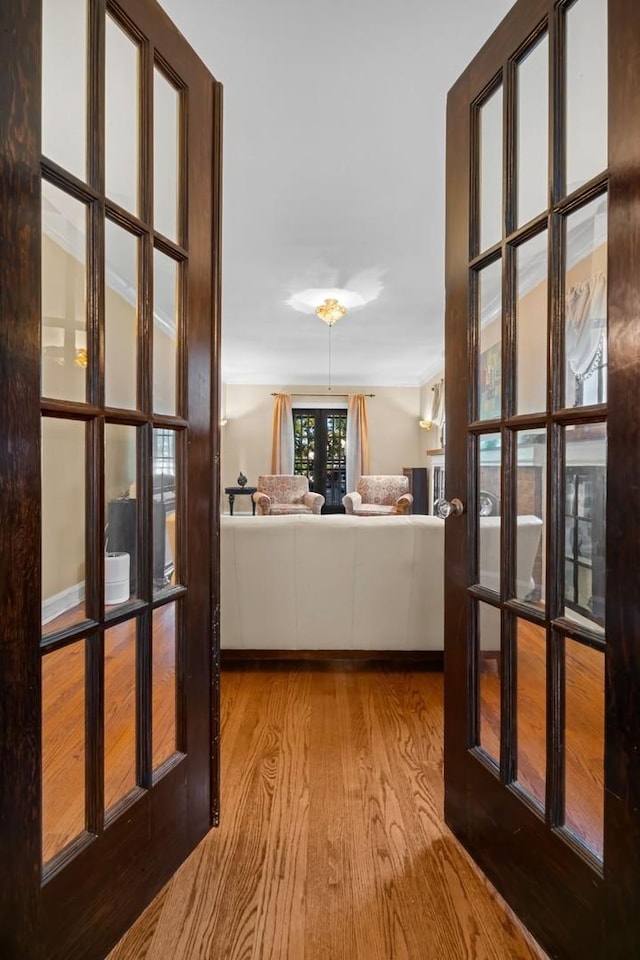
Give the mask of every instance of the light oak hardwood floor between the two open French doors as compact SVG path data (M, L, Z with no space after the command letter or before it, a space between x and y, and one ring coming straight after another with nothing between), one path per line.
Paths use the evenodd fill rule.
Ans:
M227 670L222 825L110 960L540 960L442 819L442 675Z

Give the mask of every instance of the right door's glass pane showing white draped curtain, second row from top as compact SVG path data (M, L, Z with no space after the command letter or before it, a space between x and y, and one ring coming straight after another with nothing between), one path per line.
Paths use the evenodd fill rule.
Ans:
M567 217L565 405L607 400L607 198Z

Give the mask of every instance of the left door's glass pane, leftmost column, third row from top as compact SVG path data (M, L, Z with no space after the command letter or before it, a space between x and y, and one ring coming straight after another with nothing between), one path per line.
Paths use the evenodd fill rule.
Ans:
M85 619L85 424L42 418L42 625Z

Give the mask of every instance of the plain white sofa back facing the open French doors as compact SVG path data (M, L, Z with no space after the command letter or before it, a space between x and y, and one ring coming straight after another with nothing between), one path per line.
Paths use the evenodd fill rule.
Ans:
M439 518L220 519L223 648L442 650Z

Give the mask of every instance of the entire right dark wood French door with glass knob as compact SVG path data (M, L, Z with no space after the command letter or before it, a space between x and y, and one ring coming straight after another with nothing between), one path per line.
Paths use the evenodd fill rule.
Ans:
M564 960L640 945L639 58L518 0L448 99L445 814Z

